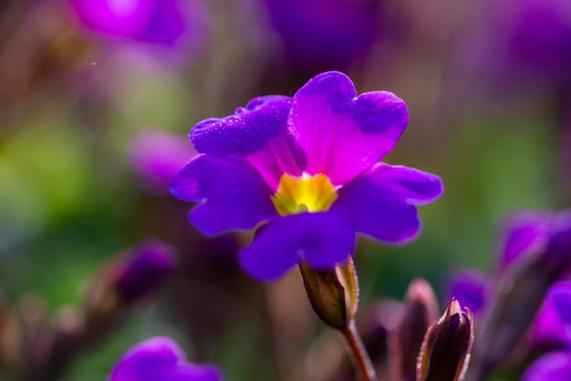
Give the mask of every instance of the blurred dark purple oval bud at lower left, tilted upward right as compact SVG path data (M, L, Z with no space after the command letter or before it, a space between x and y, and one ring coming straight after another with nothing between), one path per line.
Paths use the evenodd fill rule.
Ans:
M133 249L121 261L115 287L124 302L134 302L156 290L175 266L175 250L149 240Z

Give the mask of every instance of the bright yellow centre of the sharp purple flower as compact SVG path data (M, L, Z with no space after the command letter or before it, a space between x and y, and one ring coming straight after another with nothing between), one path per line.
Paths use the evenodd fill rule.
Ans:
M277 213L282 216L299 212L324 212L337 199L337 188L327 175L301 177L282 175L272 196Z

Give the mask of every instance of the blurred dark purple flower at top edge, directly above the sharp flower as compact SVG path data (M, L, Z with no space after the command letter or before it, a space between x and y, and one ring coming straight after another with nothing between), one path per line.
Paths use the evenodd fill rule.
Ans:
M372 45L375 0L264 0L293 64L306 70L347 69ZM317 72L318 72L317 71Z

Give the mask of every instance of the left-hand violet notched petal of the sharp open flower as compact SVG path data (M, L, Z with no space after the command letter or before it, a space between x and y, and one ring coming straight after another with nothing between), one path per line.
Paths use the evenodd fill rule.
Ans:
M195 156L175 175L171 193L185 201L200 202L190 219L207 235L254 228L278 216L269 187L239 156Z

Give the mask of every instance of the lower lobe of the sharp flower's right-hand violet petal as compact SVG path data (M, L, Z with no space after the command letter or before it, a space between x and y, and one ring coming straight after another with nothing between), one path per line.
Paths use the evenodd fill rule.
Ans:
M390 243L405 243L420 230L416 206L387 194L382 182L359 177L339 189L331 210L344 213L356 231Z

